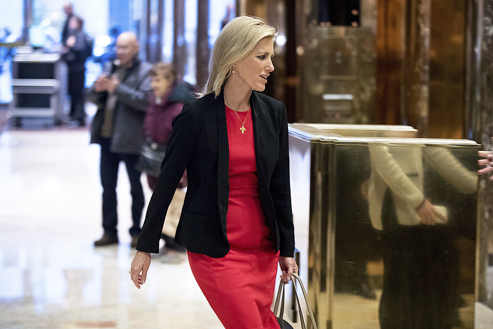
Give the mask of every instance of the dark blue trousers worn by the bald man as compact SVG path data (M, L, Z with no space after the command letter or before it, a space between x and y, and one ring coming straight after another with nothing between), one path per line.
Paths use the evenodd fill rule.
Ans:
M132 195L132 220L130 235L138 236L141 233L141 217L144 209L144 193L141 184L141 172L135 169L139 155L120 154L110 151L111 139L101 139L100 176L103 185L103 228L108 235L117 235L117 200L116 182L120 161L125 162L130 180L130 194Z

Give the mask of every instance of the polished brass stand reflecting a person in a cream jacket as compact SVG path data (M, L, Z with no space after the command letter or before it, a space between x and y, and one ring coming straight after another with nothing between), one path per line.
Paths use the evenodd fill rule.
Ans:
M289 127L296 247L318 327L472 329L479 145L360 128Z

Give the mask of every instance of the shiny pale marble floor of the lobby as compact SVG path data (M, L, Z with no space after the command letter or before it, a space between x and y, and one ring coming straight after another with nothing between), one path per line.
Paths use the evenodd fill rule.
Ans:
M98 163L86 129L1 133L0 329L223 328L186 260L165 264L157 255L141 290L130 281L135 251L123 167L120 243L93 247L102 234ZM357 328L370 328L361 316ZM493 328L493 312L479 303L475 328Z

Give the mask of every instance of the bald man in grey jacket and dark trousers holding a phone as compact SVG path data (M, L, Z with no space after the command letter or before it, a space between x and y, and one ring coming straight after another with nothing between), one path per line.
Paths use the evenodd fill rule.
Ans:
M116 181L118 165L125 162L132 195L130 228L132 246L141 232L144 194L141 172L135 169L143 142L143 123L151 79L151 65L138 58L139 44L135 34L124 32L116 39L116 61L92 88L93 102L98 106L92 125L91 143L101 145L100 176L103 185L103 237L95 246L118 243Z

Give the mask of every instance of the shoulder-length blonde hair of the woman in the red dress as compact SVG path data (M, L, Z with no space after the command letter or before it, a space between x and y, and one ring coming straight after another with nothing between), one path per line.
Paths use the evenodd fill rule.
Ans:
M200 97L221 93L234 63L244 59L264 37L277 37L277 29L258 17L239 16L228 22L212 47L209 60L209 78Z

